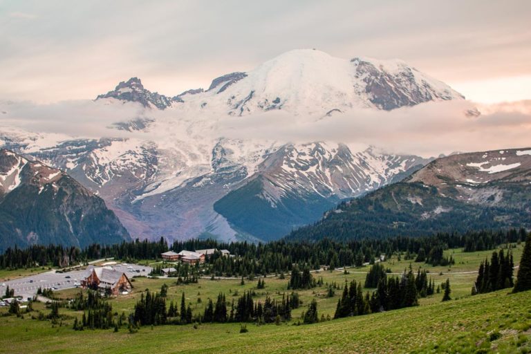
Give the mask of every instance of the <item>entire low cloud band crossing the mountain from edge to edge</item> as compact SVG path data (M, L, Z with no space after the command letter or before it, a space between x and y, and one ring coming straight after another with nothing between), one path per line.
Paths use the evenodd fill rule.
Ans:
M476 108L479 116L465 113ZM6 113L3 113L6 112ZM438 156L454 151L530 147L531 100L477 105L469 101L429 102L393 111L355 109L324 118L268 111L243 117L194 113L177 106L146 110L140 104L115 100L66 101L55 104L0 103L1 127L75 138L139 138L178 145L217 138L277 142L344 142L374 145L391 153ZM148 132L111 129L114 122L151 118Z

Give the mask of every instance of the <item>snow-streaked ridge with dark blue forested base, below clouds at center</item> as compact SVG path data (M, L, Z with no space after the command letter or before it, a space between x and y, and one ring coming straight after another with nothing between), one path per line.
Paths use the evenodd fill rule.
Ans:
M271 240L319 219L344 198L360 196L429 160L369 147L315 142L285 145L245 183L214 203L237 230Z

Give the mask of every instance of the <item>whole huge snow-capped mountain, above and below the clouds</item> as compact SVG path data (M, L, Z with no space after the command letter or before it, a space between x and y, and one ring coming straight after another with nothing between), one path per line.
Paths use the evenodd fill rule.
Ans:
M117 138L0 129L0 146L68 171L104 198L133 237L274 239L429 160L361 144L227 138L219 133L227 120L277 111L310 124L360 109L462 98L398 60L292 50L174 97L147 91L136 77L120 82L93 102L143 107L107 124L106 136Z

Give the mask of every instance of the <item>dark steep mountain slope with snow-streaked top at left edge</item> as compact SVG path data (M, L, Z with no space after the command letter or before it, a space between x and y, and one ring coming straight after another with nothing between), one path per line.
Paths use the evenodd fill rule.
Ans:
M130 240L118 218L73 178L0 149L0 248Z

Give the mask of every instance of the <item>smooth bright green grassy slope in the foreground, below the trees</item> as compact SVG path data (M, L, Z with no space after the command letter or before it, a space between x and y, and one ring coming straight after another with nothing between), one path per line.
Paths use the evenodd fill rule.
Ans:
M527 353L530 326L530 294L500 291L314 325L248 325L248 333L239 333L239 324L160 326L133 335L75 332L70 326L7 317L0 322L0 352Z

